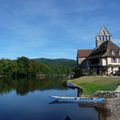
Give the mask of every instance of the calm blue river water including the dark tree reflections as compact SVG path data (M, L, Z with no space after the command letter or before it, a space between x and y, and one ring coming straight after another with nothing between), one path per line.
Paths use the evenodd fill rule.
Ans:
M0 80L0 120L98 120L94 108L49 104L50 95L76 96L62 80Z

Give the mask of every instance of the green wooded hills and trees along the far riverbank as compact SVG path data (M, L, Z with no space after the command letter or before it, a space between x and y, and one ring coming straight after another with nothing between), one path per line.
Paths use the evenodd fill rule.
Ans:
M1 59L0 76L34 77L40 74L68 74L74 68L75 61L67 59Z

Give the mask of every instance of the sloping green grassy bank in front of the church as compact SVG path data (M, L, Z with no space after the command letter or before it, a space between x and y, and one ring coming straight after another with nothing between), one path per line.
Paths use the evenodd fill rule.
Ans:
M96 91L114 91L120 84L120 77L87 76L68 80L83 89L83 94L91 95Z

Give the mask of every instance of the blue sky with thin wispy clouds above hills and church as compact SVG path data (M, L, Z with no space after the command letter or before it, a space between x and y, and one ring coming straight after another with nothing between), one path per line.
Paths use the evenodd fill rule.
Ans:
M120 0L0 0L0 58L70 58L105 26L120 46Z

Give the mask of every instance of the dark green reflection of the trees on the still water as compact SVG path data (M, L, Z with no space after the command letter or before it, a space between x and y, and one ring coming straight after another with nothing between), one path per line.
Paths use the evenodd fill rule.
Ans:
M66 89L62 84L65 83L63 78L49 78L45 80L36 79L1 79L0 80L0 94L9 93L15 90L17 95L26 95L29 92L36 90L48 89Z

